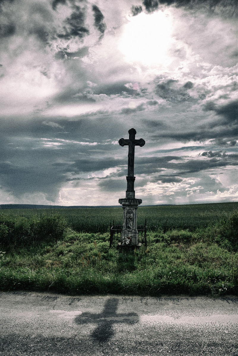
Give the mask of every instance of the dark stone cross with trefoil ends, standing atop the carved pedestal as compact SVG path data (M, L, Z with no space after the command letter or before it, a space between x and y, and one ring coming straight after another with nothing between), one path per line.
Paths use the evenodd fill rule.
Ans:
M127 180L127 189L126 189L126 198L135 198L135 190L134 190L134 158L135 158L135 146L144 146L145 140L140 138L139 140L135 140L136 131L135 129L130 129L129 140L121 138L119 140L120 146L129 146L128 150L128 175L126 177Z

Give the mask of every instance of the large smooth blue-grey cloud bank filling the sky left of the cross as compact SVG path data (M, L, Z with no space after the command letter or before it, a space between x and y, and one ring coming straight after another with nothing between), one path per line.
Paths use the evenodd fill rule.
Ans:
M0 185L16 197L42 192L53 201L61 187L71 180L69 174L126 165L127 155L122 155L122 159L114 159L113 154L105 158L105 154L115 149L112 143L94 145L99 137L100 140L115 139L117 132L122 131L118 127L121 124L109 125L109 122L103 119L102 124L100 119L95 122L88 117L75 121L53 117L1 120ZM122 169L126 175L124 167Z

